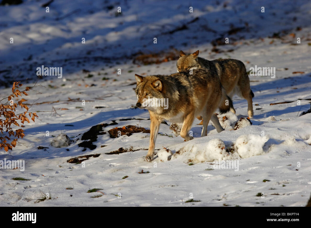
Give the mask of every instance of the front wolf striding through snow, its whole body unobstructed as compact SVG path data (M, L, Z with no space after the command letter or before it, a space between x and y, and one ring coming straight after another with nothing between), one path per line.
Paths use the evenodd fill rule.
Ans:
M153 159L156 137L163 119L183 123L180 136L188 141L193 139L189 136L189 131L195 116L203 116L202 137L207 135L207 124L211 118L216 118L219 124L214 114L217 108L220 113L226 113L233 108L232 101L226 95L217 74L204 69L194 69L192 73L183 71L171 75L146 77L135 74L137 82L135 93L138 99L136 106L146 108L151 120L146 161ZM168 105L166 107L150 105L146 100L167 100Z

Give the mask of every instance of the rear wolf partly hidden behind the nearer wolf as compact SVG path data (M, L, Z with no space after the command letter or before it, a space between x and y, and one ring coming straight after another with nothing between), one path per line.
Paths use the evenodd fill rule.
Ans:
M217 72L220 78L221 85L225 88L228 96L232 98L234 94L245 98L248 103L248 117L252 118L254 93L249 86L249 78L246 73L245 65L240 60L236 59L220 59L206 60L198 57L199 51L191 55L185 55L180 51L179 60L177 61L177 72L190 69L207 69L212 72ZM235 114L232 107L231 112Z

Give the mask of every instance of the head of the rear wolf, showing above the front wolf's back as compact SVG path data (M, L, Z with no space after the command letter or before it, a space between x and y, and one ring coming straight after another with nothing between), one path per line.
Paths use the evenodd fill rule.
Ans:
M199 50L191 55L185 55L183 51L180 51L179 60L177 61L176 68L177 72L190 70L190 69L200 69L201 66L198 62Z

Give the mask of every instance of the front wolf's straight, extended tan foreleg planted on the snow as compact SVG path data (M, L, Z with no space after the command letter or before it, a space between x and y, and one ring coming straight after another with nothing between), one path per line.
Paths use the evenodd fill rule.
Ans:
M162 122L162 118L156 116L153 112L149 111L150 113L150 143L149 143L149 150L145 157L145 161L150 162L153 159L154 151L155 151L155 144L156 144L156 137L158 136L160 123Z

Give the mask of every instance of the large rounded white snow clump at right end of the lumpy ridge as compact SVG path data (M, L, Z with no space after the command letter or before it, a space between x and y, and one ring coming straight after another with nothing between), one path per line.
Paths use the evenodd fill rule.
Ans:
M269 140L268 136L241 135L234 143L234 149L241 158L264 154L262 147Z

